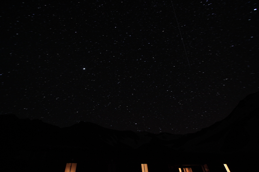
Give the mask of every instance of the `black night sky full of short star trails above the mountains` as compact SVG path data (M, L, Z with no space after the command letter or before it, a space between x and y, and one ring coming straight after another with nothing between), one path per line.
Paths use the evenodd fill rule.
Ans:
M60 127L199 131L259 91L257 6L5 1L0 113Z

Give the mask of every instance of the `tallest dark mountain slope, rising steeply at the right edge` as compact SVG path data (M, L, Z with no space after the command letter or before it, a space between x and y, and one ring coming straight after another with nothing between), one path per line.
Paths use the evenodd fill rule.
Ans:
M241 100L224 120L179 139L174 148L186 152L258 153L259 92Z

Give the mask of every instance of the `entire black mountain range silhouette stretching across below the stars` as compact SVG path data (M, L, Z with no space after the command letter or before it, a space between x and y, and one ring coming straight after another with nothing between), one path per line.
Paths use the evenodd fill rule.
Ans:
M184 135L119 131L91 122L60 128L1 115L2 162L256 163L252 157L259 152L258 115L259 92L247 95L222 121Z

